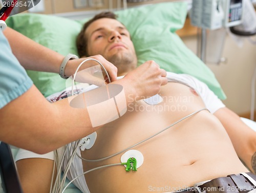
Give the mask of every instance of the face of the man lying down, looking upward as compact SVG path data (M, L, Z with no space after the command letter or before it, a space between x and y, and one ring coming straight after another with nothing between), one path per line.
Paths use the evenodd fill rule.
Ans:
M130 33L118 20L98 19L87 28L85 33L90 56L102 55L122 73L136 68L137 57Z

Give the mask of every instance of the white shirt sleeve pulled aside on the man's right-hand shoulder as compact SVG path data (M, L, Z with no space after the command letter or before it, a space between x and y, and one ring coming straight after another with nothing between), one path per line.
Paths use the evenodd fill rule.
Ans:
M212 92L204 82L197 78L187 74L175 74L172 72L167 72L167 78L170 82L180 82L195 89L201 96L205 107L210 113L214 114L217 110L225 107L225 104L223 104L214 92Z

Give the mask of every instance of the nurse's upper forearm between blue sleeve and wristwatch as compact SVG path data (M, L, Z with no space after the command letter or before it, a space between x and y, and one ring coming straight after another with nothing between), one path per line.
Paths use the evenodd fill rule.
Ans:
M37 44L11 28L7 27L4 34L13 54L25 69L59 73L60 63L64 56Z

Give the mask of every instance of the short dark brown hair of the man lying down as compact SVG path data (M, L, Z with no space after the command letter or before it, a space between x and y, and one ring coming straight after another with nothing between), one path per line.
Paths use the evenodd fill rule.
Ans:
M82 30L80 31L80 33L78 34L77 38L76 38L76 47L78 50L78 54L80 57L82 56L89 56L88 55L88 50L87 50L87 37L86 37L86 29L88 28L88 26L90 26L93 22L95 22L98 19L101 18L111 18L111 19L116 19L117 15L113 12L101 12L97 15L95 15L92 19L90 19L87 23L85 23L82 27Z

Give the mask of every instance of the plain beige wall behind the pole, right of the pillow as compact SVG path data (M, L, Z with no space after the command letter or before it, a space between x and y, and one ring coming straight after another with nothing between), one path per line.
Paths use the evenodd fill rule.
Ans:
M189 49L194 53L197 52L196 36L182 39ZM256 40L256 36L254 39ZM237 114L248 113L251 104L251 78L256 67L256 45L246 40L244 46L240 48L227 35L222 55L227 59L226 63L220 65L207 63L207 66L215 73L227 96L223 102Z

